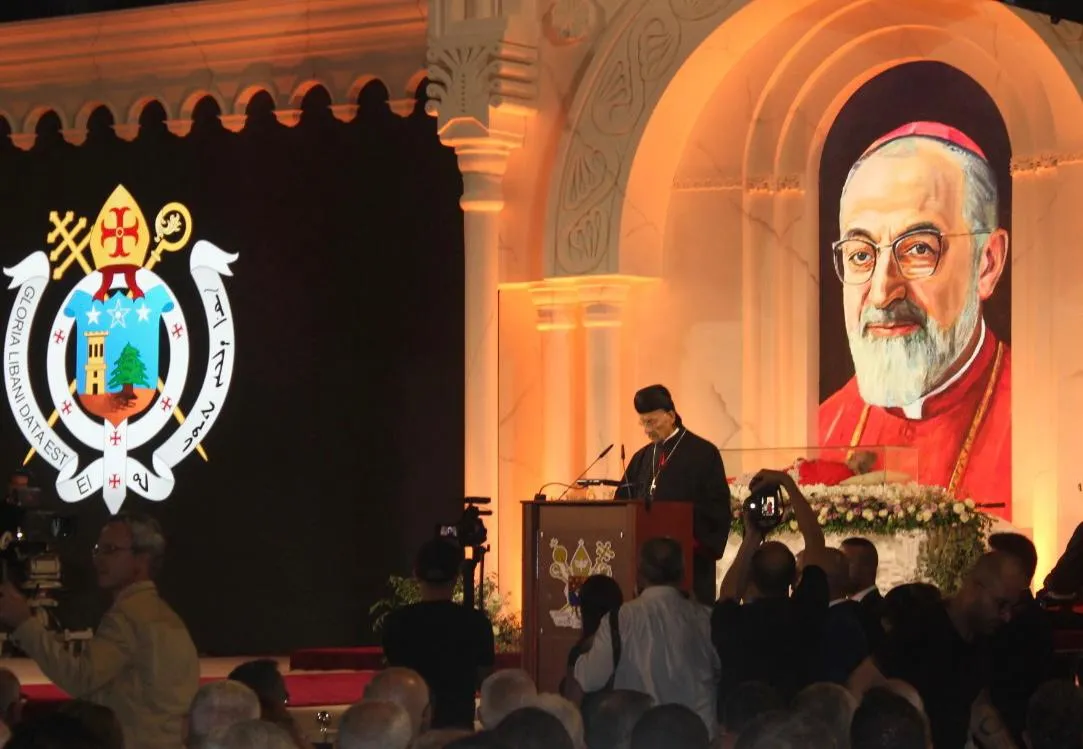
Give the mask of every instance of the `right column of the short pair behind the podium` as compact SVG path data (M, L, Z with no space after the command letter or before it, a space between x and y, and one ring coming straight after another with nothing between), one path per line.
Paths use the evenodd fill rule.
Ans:
M584 352L585 425L584 465L591 463L606 445L617 446L590 475L599 478L617 476L621 472L621 329L624 304L628 298L626 284L604 284L579 287L583 305L583 327L586 328Z

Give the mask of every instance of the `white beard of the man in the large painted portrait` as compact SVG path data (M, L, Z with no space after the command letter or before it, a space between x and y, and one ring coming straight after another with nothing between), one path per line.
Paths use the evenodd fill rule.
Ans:
M878 338L862 333L867 321L862 313L857 329L846 331L861 398L871 406L902 408L935 390L966 352L980 310L975 284L950 328L925 315L924 324L909 336Z

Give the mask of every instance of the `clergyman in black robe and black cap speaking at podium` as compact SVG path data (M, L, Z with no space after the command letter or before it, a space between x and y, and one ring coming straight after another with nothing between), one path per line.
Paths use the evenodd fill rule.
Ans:
M643 387L636 393L635 406L651 444L628 461L616 499L693 503L692 588L696 600L712 605L718 597L715 566L730 533L730 485L722 456L688 431L665 386Z

